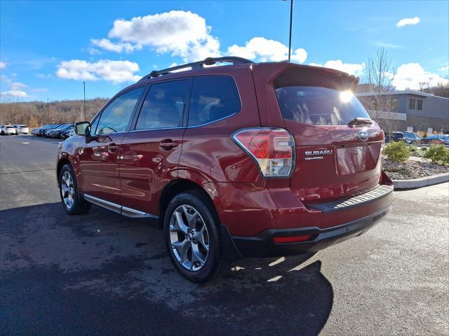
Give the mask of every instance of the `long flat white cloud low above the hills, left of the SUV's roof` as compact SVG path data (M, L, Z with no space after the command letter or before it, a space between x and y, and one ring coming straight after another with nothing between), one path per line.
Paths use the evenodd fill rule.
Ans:
M112 83L123 83L139 80L135 75L139 65L130 61L112 61L100 59L98 62L86 62L81 59L72 59L58 64L56 76L74 80L107 80Z

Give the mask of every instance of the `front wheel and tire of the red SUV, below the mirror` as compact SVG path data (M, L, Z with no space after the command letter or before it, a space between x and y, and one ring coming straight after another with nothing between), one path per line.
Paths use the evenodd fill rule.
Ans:
M91 209L91 203L84 200L81 195L71 165L62 166L59 174L59 189L62 207L67 214L86 214Z

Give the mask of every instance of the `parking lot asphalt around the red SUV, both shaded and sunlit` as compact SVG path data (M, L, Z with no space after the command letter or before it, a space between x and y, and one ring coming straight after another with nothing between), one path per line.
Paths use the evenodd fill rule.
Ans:
M314 255L189 283L154 222L67 216L58 141L0 137L3 335L448 335L449 183L394 193L375 228Z

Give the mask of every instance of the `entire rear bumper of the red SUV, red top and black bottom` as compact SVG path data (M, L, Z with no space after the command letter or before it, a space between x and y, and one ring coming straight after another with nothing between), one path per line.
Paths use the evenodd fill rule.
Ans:
M206 188L214 192L211 198L225 192L232 195L214 200L232 255L259 258L319 251L362 235L389 213L394 190L383 172L380 186L366 193L305 205L290 188L257 190L245 183L215 186ZM223 204L223 199L229 204Z

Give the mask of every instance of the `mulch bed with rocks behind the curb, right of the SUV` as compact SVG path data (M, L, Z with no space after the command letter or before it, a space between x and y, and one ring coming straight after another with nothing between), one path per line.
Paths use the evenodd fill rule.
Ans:
M398 163L387 158L384 159L383 169L392 180L419 179L420 177L449 173L447 166L411 160Z

